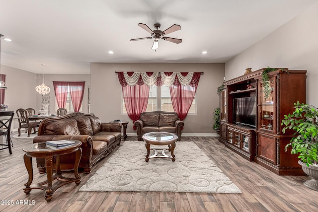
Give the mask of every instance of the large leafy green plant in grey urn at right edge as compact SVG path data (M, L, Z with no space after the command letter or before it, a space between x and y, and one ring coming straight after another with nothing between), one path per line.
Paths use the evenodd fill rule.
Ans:
M304 182L310 189L318 191L318 109L313 105L294 103L295 111L284 115L282 120L283 133L293 130L293 138L285 146L285 151L291 147L292 154L299 154L298 163L303 171L312 179Z

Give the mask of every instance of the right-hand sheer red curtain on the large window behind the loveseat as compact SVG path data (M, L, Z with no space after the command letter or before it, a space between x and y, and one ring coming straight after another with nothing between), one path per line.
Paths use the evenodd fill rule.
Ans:
M186 73L182 73L182 75L184 74ZM170 86L172 106L180 120L183 120L189 112L200 76L200 72L195 72L189 85L181 85L180 82L175 79L173 85Z

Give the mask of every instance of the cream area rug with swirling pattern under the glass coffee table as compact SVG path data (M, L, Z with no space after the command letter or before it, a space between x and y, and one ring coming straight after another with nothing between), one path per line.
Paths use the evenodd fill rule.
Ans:
M166 158L146 162L146 153L144 142L125 141L79 191L241 193L193 142L176 143L174 162Z

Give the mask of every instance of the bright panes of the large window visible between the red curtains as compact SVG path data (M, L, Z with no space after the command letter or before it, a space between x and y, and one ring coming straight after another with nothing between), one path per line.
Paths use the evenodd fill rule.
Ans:
M122 114L127 114L123 97L122 102ZM156 85L152 85L150 87L146 112L152 112L156 110L174 112L170 96L170 88L168 86L162 85L157 87ZM188 114L196 114L196 95L193 99Z

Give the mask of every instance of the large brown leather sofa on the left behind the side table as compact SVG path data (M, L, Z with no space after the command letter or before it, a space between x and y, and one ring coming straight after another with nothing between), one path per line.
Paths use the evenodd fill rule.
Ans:
M82 142L82 155L79 169L89 173L91 167L107 156L121 141L120 123L101 123L94 114L71 113L56 118L44 119L38 136L33 143L40 141L79 140ZM44 158L36 158L40 173L45 173ZM74 169L75 153L61 156L61 170Z

